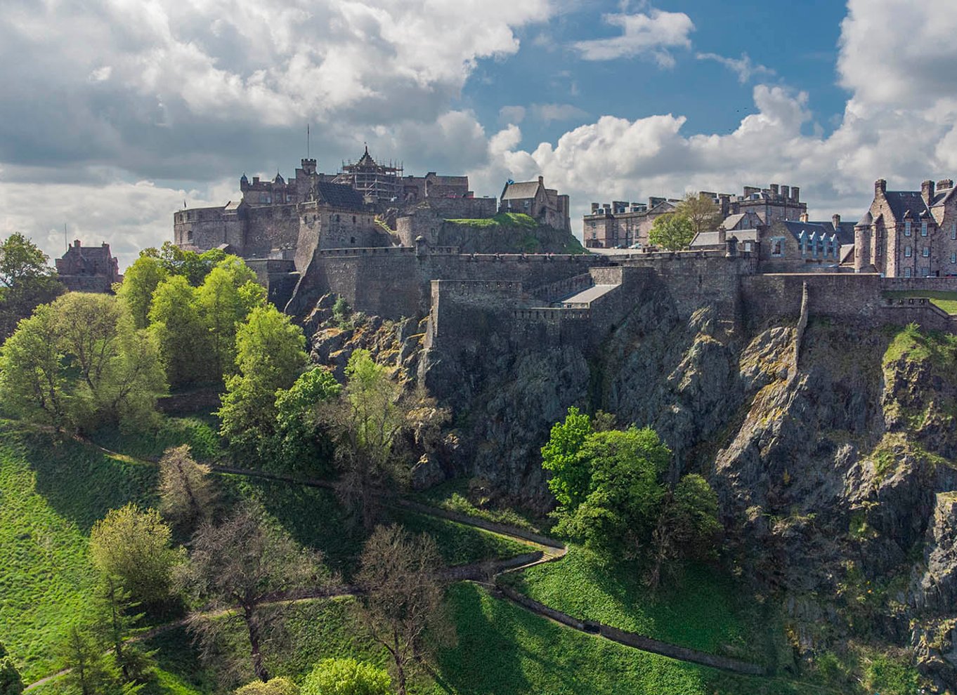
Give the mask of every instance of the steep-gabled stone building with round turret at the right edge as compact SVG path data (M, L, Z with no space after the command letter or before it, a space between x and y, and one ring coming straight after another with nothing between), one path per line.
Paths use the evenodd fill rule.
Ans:
M854 230L854 270L886 277L957 275L957 194L953 181L921 190L874 185L874 201Z

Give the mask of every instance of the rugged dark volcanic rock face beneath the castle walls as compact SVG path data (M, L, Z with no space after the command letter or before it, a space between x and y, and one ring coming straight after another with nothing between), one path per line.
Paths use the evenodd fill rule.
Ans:
M552 504L540 448L568 406L655 427L676 473L701 472L718 492L732 552L780 592L799 650L867 626L911 644L952 687L957 341L814 320L800 337L790 325L748 332L715 316L682 319L650 286L597 351L515 351L495 333L427 350L424 326L369 319L320 330L314 356L341 374L363 347L417 373L453 412L442 469L539 509Z

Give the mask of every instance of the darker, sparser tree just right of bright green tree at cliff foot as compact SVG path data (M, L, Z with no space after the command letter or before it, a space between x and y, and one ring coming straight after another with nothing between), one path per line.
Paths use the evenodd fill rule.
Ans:
M662 566L668 561L713 555L721 532L718 495L700 475L685 475L665 494L658 513L648 584L657 588Z

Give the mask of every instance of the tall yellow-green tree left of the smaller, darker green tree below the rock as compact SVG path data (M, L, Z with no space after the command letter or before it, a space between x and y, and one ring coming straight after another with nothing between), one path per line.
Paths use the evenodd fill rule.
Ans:
M305 337L276 307L250 312L236 332L238 374L226 380L220 432L236 452L261 453L276 430L276 396L295 383L305 366Z

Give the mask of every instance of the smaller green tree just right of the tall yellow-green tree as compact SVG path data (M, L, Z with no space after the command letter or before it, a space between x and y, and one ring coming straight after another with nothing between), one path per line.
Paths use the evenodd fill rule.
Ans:
M340 383L324 367L303 372L291 387L276 392L277 449L284 467L302 469L332 457L332 442L318 410L341 392Z

